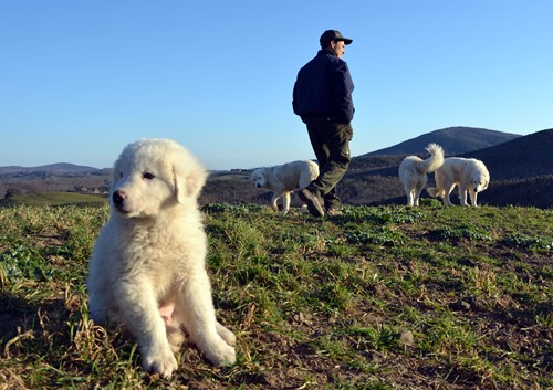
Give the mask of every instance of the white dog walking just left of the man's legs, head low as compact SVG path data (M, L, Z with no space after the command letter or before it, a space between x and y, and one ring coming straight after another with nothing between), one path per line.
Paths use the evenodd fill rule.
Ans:
M282 197L282 212L290 211L290 194L307 187L319 177L319 165L311 160L292 161L281 166L258 168L251 173L251 181L257 188L273 191L271 207L279 211L276 201Z

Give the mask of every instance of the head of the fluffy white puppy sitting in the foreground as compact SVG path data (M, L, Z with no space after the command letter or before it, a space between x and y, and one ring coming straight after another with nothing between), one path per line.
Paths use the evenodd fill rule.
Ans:
M169 139L127 145L114 164L109 204L125 218L155 217L166 208L197 201L206 169Z

